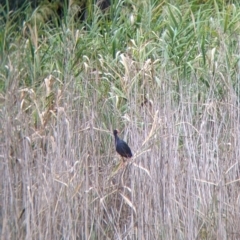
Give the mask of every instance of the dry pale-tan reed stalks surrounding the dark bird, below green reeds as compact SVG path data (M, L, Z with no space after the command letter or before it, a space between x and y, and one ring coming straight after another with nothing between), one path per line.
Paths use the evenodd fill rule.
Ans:
M6 94L2 239L239 238L240 126L232 86L222 100L209 92L196 101L194 81L176 98L167 73L157 73L161 88L146 76L149 99L141 105L137 80L130 79L130 108L118 118L136 153L120 169L112 136L117 122L102 122L104 114L119 113L111 99L100 106L88 86L101 78L82 82L85 97L70 79L40 123L37 97L24 110L18 89Z

